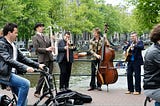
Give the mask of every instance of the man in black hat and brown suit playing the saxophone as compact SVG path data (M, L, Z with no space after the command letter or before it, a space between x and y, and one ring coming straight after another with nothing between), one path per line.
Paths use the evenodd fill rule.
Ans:
M33 48L38 56L38 62L45 64L49 67L49 73L52 74L53 71L53 55L52 51L54 50L51 47L51 40L48 36L44 36L44 24L37 23L35 24L34 30L36 34L32 37ZM36 87L36 91L34 93L35 97L40 97L41 89L44 83L43 75L40 74L40 78ZM47 91L47 85L45 84L43 87L43 94Z

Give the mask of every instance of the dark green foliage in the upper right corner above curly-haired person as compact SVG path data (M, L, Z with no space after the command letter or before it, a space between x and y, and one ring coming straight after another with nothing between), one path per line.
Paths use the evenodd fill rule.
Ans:
M135 5L133 12L136 20L135 28L140 33L149 32L149 30L160 22L160 1L159 0L128 0Z

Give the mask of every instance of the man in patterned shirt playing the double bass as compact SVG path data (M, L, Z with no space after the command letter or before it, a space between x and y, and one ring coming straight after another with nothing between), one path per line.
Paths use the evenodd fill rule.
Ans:
M89 51L92 54L92 60L91 60L91 81L90 81L90 88L88 91L92 91L97 88L97 90L101 91L101 84L96 83L95 75L96 71L98 70L101 55L100 50L102 48L102 42L103 42L103 37L101 37L101 31L99 28L93 29L93 38L90 40L89 44ZM108 40L106 39L105 41L106 45L110 45Z

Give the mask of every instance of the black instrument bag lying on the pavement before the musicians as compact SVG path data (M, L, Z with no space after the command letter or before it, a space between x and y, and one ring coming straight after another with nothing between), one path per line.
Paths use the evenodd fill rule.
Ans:
M92 97L72 90L58 92L55 96L55 101L58 106L74 106L90 103Z

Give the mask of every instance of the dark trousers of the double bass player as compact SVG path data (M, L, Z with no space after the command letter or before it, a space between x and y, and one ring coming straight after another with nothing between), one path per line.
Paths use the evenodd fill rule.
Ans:
M91 61L91 81L90 81L90 87L96 88L96 72L98 70L97 65L99 66L100 60L92 60ZM101 87L101 84L97 81L97 86Z

